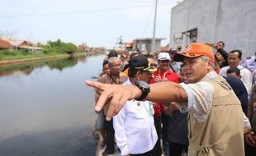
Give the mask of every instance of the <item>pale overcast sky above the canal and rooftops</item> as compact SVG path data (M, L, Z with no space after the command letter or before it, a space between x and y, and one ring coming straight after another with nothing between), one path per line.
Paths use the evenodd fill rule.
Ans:
M0 5L0 32L46 43L61 39L90 47L115 46L153 36L155 0L8 0ZM156 37L170 34L170 11L178 0L158 0Z

